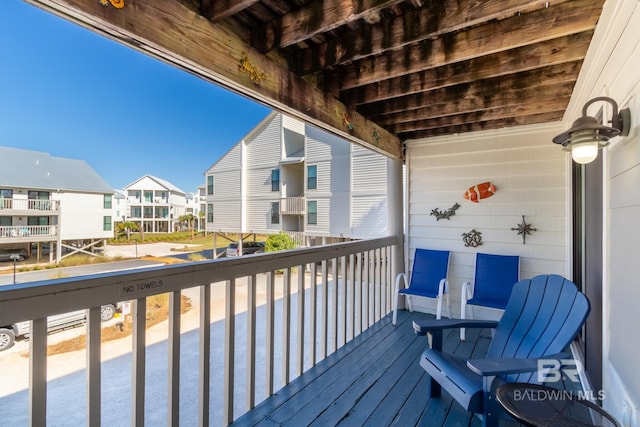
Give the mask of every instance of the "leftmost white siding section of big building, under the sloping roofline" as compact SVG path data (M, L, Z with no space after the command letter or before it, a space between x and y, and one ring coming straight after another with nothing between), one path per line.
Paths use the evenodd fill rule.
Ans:
M236 144L205 174L214 176L214 194L206 196L207 203L213 203L213 223L207 224L208 230L237 232L241 229L242 144L242 141ZM205 176L205 185L206 180Z

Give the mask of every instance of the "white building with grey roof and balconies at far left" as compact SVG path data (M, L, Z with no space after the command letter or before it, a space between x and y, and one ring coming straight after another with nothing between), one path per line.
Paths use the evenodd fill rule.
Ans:
M113 236L113 195L82 160L0 147L0 250L93 254Z

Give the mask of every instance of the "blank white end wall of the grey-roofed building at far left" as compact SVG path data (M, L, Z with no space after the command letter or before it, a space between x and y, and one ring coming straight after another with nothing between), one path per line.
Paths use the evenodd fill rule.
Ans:
M60 236L62 240L108 239L113 230L103 230L103 219L112 215L104 209L104 195L90 193L58 193L60 200Z

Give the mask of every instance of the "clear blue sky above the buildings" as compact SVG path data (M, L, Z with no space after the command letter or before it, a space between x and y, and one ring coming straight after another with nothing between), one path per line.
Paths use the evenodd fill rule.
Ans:
M270 112L20 0L0 11L0 145L80 159L112 187L183 191Z

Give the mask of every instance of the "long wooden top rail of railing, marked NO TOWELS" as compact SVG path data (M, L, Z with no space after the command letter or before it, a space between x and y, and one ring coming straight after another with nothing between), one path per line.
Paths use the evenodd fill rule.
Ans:
M1 286L0 325L320 262L397 243L398 238L390 236L234 259Z

